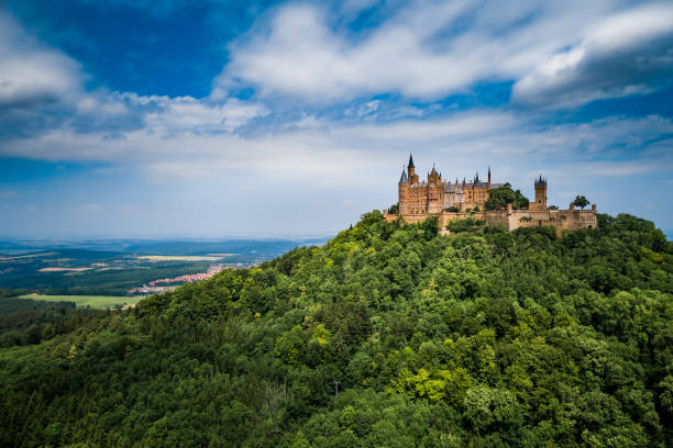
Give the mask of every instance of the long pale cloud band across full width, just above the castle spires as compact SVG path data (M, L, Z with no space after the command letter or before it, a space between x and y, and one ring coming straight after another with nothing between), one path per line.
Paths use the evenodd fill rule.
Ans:
M521 179L527 176L521 167L547 172L558 166L595 176L665 170L673 167L671 146L660 136L670 133L673 122L661 116L548 127L509 113L465 112L386 124L316 122L246 137L194 131L167 137L150 126L128 132L123 139L106 139L102 134L58 130L7 142L0 154L121 164L168 181L232 176L245 179L246 186L262 180L280 186L293 179L343 187L388 180L409 150L417 155L419 170L437 161L449 178L471 176L487 165L498 177ZM622 161L605 161L611 159Z

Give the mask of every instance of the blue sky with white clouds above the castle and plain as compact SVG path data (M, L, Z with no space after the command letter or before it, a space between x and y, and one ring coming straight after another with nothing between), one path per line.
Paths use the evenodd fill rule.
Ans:
M0 4L0 237L330 235L410 153L673 229L670 1Z

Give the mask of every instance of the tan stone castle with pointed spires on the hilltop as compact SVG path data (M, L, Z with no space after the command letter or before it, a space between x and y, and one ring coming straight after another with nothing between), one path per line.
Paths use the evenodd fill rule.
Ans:
M577 210L570 204L567 210L559 210L547 205L547 179L540 176L534 181L536 199L527 209L514 209L507 204L504 210L485 210L485 203L490 191L504 187L503 183L490 181L490 168L486 182L479 181L478 172L471 182L463 178L455 183L442 179L434 166L428 172L427 180L419 181L409 156L406 169L402 169L397 183L397 210L384 211L388 221L402 219L407 223L418 223L428 216L438 216L441 233L445 234L446 224L451 220L476 217L493 224L503 224L508 231L518 227L551 225L561 235L564 229L593 228L597 225L596 204L591 210Z

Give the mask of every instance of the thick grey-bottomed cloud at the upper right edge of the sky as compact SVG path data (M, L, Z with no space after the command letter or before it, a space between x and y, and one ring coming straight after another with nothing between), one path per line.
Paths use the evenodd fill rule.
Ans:
M673 74L673 5L607 18L576 45L547 58L514 87L516 101L574 107L646 93Z

